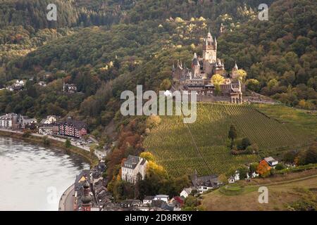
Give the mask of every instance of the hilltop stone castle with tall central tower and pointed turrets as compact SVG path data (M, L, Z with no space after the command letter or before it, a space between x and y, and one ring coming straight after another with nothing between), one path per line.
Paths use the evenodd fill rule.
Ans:
M228 74L223 60L217 58L217 46L216 37L213 39L209 31L207 37L204 37L202 57L194 53L191 69L183 66L178 60L177 66L173 65L173 81L180 84L184 91L197 91L199 94L209 95L214 94L216 89L211 77L218 74L224 78L223 84L219 84L220 93L224 97L230 97L232 103L242 103L244 85L239 79L237 63Z

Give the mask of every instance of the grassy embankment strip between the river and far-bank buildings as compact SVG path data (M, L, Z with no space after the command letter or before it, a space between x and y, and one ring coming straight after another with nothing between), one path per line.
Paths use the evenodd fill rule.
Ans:
M0 129L0 136L7 136L11 137L13 139L21 139L23 141L30 141L33 143L43 144L44 146L54 146L56 148L61 148L63 150L66 150L66 152L70 151L72 153L76 153L77 155L82 156L82 158L85 158L87 162L91 165L91 167L94 167L95 165L98 165L99 158L97 158L96 155L89 152L89 150L85 150L83 148L79 148L77 146L74 146L73 144L70 146L70 148L66 148L65 141L58 140L58 139L52 139L50 136L47 136L47 139L49 139L49 145L45 145L43 141L43 136L39 134L30 134L30 136L23 136L23 132L21 131L11 131L11 130L4 130Z

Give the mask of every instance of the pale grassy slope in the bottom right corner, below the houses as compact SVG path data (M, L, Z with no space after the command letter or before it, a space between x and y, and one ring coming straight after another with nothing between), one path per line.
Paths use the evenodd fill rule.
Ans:
M317 208L317 175L276 184L263 184L268 188L268 203L259 203L259 186L230 184L202 195L206 210L303 210L300 206Z

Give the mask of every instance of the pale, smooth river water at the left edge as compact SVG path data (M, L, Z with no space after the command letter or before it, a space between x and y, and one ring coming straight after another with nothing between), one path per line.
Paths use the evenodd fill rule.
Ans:
M58 210L63 191L88 168L73 153L0 136L0 210Z

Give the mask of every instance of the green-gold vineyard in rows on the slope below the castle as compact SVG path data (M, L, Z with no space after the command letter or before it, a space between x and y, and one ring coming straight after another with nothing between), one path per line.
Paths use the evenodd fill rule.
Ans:
M182 117L161 117L144 140L144 147L154 154L156 162L173 176L221 174L247 162L256 162L260 155L278 154L282 150L301 148L309 135L294 132L288 124L259 112L249 105L199 103L197 120L184 124ZM238 138L248 137L257 143L260 155L232 155L228 148L228 130L237 127Z

